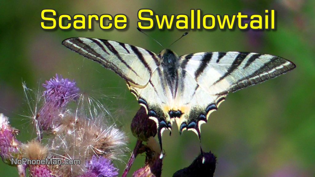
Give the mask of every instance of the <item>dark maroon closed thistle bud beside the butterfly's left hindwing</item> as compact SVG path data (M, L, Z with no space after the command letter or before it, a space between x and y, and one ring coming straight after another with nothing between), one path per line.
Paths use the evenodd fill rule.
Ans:
M131 122L132 134L141 141L147 141L149 137L157 134L156 123L149 119L146 108L141 106Z

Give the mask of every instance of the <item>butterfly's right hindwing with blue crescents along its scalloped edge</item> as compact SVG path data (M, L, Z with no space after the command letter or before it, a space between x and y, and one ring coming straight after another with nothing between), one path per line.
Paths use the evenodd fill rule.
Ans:
M175 117L177 127L180 134L184 130L192 130L200 138L201 124L206 123L209 114L217 110L219 104L225 100L225 95L209 94L200 87L195 77L182 68L180 70L184 84L179 87L178 97L174 100L177 103L174 109L182 113L180 117Z

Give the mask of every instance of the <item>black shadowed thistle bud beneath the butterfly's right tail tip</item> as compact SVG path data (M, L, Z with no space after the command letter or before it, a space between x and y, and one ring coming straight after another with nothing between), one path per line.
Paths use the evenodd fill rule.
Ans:
M204 158L204 163L203 163ZM173 177L213 176L215 173L216 157L210 152L199 155L189 167L178 170Z

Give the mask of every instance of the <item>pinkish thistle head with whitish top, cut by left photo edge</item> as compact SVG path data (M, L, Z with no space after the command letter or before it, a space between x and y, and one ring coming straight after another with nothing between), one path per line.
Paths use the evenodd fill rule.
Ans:
M20 155L21 142L16 140L15 135L19 130L10 126L8 117L0 114L0 156L4 163L11 163L11 158L18 158Z

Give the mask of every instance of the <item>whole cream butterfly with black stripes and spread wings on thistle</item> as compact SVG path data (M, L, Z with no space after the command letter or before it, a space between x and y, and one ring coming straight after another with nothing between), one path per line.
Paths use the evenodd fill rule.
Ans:
M277 77L295 68L283 58L248 52L201 52L178 56L170 49L159 54L125 43L74 37L67 48L116 72L128 85L149 118L162 132L175 121L180 133L194 131L230 92ZM161 153L162 158L162 153Z

